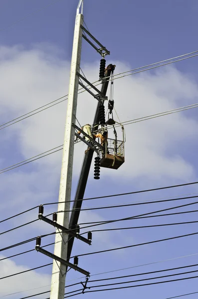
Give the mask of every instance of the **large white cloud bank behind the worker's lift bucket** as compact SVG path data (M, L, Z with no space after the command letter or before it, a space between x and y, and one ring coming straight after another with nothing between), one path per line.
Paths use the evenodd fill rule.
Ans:
M1 105L11 112L8 119L67 94L69 63L54 58L51 53L51 48L47 52L46 46L42 49L38 45L28 51L21 47L1 47L0 99ZM117 62L116 65L118 72L126 70L124 64ZM93 81L97 78L98 65L84 65L83 71ZM152 75L145 73L116 80L114 84L115 108L121 121L194 103L198 93L192 78L173 67ZM96 101L90 95L79 96L77 116L81 124L92 122L95 107ZM20 152L26 158L62 144L65 114L66 102L63 102L3 132L14 131ZM193 142L197 131L197 121L183 113L126 126L126 162L119 170L105 169L104 173L125 179L149 176L159 180L189 180L195 176L195 170L177 144L185 144L185 140ZM75 175L79 173L77 165L81 163L84 149L82 143L76 146ZM44 165L49 178L60 171L60 160L59 152L34 163Z

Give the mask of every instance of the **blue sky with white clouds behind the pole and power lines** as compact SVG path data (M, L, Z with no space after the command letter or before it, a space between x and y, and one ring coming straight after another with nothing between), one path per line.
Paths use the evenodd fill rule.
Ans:
M51 3L50 0L0 1L0 123L9 121L41 105L67 94L73 29L78 0L60 0L1 31L1 28ZM84 0L84 21L91 33L111 55L107 63L116 64L116 73L197 50L196 0ZM90 81L98 79L100 56L83 41L81 67ZM121 121L127 121L198 102L198 58L178 62L170 67L125 77L115 81L115 108ZM109 94L108 94L109 95ZM66 104L63 102L25 121L0 131L0 168L63 143ZM83 125L92 122L95 100L86 93L79 95L77 118ZM111 134L111 133L110 133ZM120 134L118 130L118 134ZM93 179L93 166L85 197L129 192L133 190L196 181L197 110L126 126L126 162L119 170L101 170L101 179ZM78 180L86 147L75 146L72 196ZM45 202L58 199L61 152L0 174L1 218ZM141 195L86 201L83 207L157 199L180 194L197 193L198 187L183 187ZM196 194L195 194L196 195ZM73 197L72 197L73 198ZM129 208L82 211L80 222L129 217L158 209L194 202L196 199L156 203ZM45 213L56 211L49 206ZM183 211L196 209L196 205ZM181 209L182 210L182 209ZM101 228L143 226L197 220L197 213L127 221ZM0 223L5 231L37 218L33 210L13 220ZM50 233L47 224L32 225L1 236L1 247ZM74 254L127 246L142 242L197 232L197 224L93 233L93 245L75 242ZM47 237L42 244L53 242ZM167 241L118 252L79 258L79 266L97 274L137 265L173 259L198 253L197 236ZM34 248L34 242L2 252L3 257ZM53 247L48 247L53 252ZM0 257L0 258L3 258ZM10 260L0 261L0 276L51 263L43 255L31 252ZM197 256L138 267L117 272L130 275L191 265ZM95 278L113 277L115 273ZM196 274L195 274L196 275ZM51 267L41 268L21 276L0 281L1 298L15 299L49 289ZM70 271L67 280L81 277ZM75 282L75 281L74 281ZM78 281L77 281L78 282ZM69 284L69 283L68 283ZM44 287L47 286L47 287ZM129 298L166 299L184 293L198 292L197 280L103 292L104 298L121 295ZM94 293L95 298L101 297ZM84 295L92 298L93 294ZM36 298L36 297L35 297ZM38 298L47 298L46 295ZM197 298L196 295L191 296Z

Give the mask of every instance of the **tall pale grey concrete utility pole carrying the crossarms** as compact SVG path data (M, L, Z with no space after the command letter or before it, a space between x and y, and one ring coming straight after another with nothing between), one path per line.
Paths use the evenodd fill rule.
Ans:
M79 12L81 8L81 13ZM73 151L75 129L72 123L75 124L75 115L77 107L78 81L79 77L76 72L80 72L80 57L82 44L82 28L83 25L83 0L79 1L75 20L73 51L71 58L71 70L69 81L69 95L67 104L67 115L65 124L64 146L62 156L62 167L59 189L59 204L58 211L70 209L71 198L71 181L73 167ZM61 201L66 201L60 203ZM69 212L58 213L57 223L68 228L69 227ZM60 233L59 233L60 232ZM61 230L56 230L54 255L66 260L67 259L67 241L68 233L62 233ZM53 261L51 293L50 299L63 299L65 293L65 272L66 266L56 260Z

